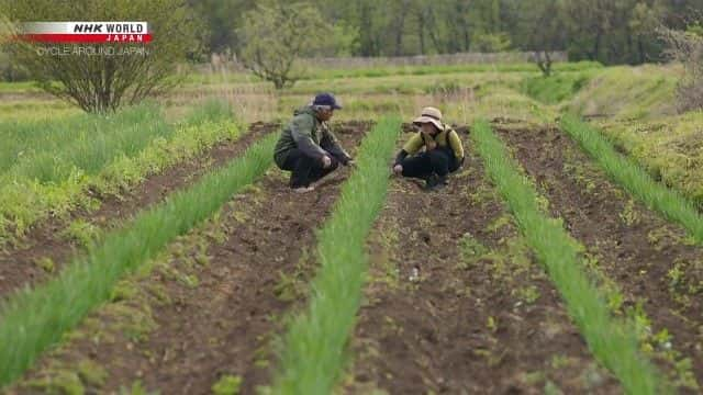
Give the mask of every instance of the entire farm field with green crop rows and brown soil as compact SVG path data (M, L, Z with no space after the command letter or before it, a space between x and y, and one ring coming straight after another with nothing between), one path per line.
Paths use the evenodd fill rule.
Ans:
M0 83L0 391L700 393L703 113L677 66L555 68L198 72L107 119ZM320 91L357 163L299 195ZM433 192L390 171L427 105L467 151Z

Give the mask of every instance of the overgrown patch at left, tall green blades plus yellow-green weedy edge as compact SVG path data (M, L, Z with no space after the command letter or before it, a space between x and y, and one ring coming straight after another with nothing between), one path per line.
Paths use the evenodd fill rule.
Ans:
M55 142L56 136L46 135L56 133L60 136L62 132L71 131L68 127L71 125L86 126L83 121L87 119L98 123L112 121L80 115L78 121L68 121L59 129L27 129L29 135L24 139L13 140L14 149L20 149L16 156L26 159L18 160L10 170L0 174L0 245L21 238L31 225L48 215L62 216L78 207L97 207L99 202L86 193L89 189L102 194L116 194L141 182L144 177L186 160L219 140L237 137L238 127L232 122L231 113L223 109L208 110L208 105L216 106L207 104L196 109L193 113L203 113L193 116L192 122L167 125L163 120L156 121L159 126L155 127L167 135L160 135L160 132L149 135L148 126L155 125L147 120L154 115L150 110L115 115L121 120L118 124L124 125L126 131L103 128L94 136L90 129L66 133L67 142ZM135 124L127 125L130 120ZM194 124L197 122L202 123ZM11 133L22 134L21 129ZM147 137L138 136L140 133ZM68 139L69 135L76 139ZM135 138L131 140L129 135ZM123 150L119 146L129 149ZM26 154L23 147L27 148ZM42 162L41 158L45 161ZM69 167L68 162L74 158L76 160ZM87 158L96 161L86 161ZM79 167L81 163L87 167Z

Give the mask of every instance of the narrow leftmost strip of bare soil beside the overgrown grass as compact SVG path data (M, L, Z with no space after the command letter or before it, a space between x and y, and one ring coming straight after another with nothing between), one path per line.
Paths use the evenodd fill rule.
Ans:
M163 201L174 191L187 188L200 176L226 163L253 142L276 128L276 124L253 124L237 140L221 142L192 160L149 176L122 196L97 196L101 205L96 212L80 210L70 213L68 219L51 218L37 224L22 238L21 246L0 250L0 298L25 285L44 281L83 249L77 241L62 236L71 222L83 221L98 228L119 226L141 210ZM41 263L46 259L51 260L49 266Z

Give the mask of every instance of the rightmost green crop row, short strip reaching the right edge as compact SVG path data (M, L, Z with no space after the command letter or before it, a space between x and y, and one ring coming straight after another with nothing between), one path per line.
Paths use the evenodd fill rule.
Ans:
M585 150L607 176L627 192L644 202L650 210L681 224L699 244L703 244L703 216L693 202L676 190L655 181L629 158L618 154L601 133L576 115L561 119L561 127Z

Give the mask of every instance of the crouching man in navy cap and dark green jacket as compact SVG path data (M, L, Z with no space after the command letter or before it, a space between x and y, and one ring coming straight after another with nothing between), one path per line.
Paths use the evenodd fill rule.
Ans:
M313 191L311 184L336 170L339 163L354 162L327 124L339 109L332 93L320 93L312 104L297 110L293 120L283 127L274 160L281 170L291 171L293 191Z

